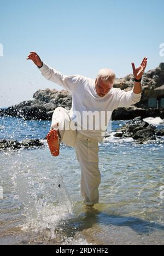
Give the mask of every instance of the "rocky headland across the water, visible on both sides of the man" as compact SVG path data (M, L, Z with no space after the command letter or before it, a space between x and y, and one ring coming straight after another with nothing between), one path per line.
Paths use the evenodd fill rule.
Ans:
M132 90L134 78L132 74L116 79L114 87L122 90ZM148 106L149 98L164 102L164 63L143 75L142 98L136 105L128 108L118 108L113 112L113 120L130 120L138 116L164 118L163 103L159 108ZM54 109L57 107L71 109L72 96L66 90L55 89L38 90L33 95L33 100L24 101L7 109L0 109L0 116L11 115L25 120L51 120Z

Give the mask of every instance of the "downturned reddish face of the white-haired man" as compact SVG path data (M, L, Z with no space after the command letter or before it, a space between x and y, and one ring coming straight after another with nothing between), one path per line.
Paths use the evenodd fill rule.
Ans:
M101 79L96 78L95 88L97 95L104 97L113 88L114 81L111 83L104 83Z

